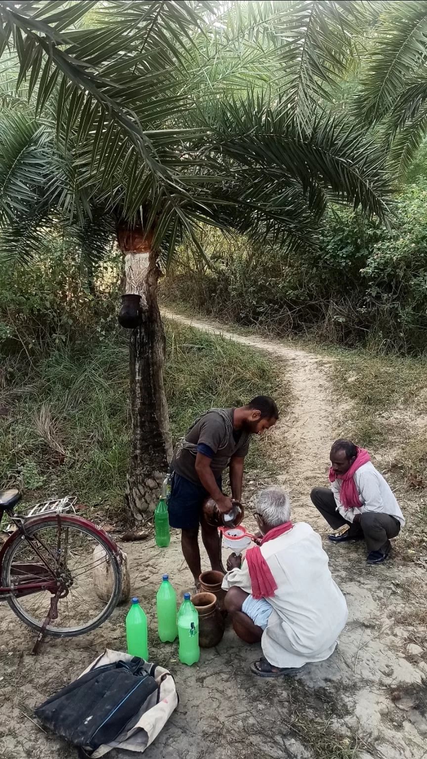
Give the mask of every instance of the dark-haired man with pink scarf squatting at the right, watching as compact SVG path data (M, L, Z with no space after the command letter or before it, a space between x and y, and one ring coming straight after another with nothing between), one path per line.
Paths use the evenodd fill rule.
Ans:
M315 487L311 498L331 528L349 525L340 535L329 535L334 543L363 540L368 547L368 564L380 564L391 551L390 538L405 524L399 504L371 462L368 451L351 440L336 440L331 448L327 487Z

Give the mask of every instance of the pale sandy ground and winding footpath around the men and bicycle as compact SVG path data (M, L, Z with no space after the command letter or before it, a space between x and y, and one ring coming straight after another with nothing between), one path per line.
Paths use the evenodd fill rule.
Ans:
M200 320L176 318L211 329ZM283 473L276 481L289 487L294 521L308 521L325 537L326 526L312 508L309 492L325 483L334 438L327 360L280 342L217 331L283 362L293 408L270 433L269 447ZM258 484L252 480L248 485L249 506ZM405 512L410 530L407 497ZM245 522L254 526L250 517ZM384 565L368 567L361 543L333 546L325 539L331 571L350 611L339 647L330 660L306 666L295 680L260 680L248 672L260 647L242 644L229 624L223 641L202 650L192 667L179 663L176 644L156 640L153 602L163 572L169 572L179 596L191 589L177 531L167 549L157 548L153 540L122 547L128 552L132 594L140 597L149 619L150 658L169 667L180 698L163 733L147 749L147 759L427 757L427 572L422 565L403 561L397 550ZM206 556L204 564L207 568ZM33 707L74 679L104 647L124 650L126 611L119 607L90 635L48 640L40 656L31 657L30 631L2 606L0 757L77 756L74 748L31 721Z

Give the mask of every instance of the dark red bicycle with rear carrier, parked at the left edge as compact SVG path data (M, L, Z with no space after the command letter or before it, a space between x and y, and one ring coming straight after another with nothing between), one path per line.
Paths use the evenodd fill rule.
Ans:
M108 619L122 589L122 554L105 532L77 515L76 499L46 501L27 515L14 512L20 500L18 490L0 492L0 521L4 512L11 520L0 550L0 601L39 632L36 653L44 635L74 638ZM96 546L102 551L94 553ZM103 562L112 569L105 601L93 581Z

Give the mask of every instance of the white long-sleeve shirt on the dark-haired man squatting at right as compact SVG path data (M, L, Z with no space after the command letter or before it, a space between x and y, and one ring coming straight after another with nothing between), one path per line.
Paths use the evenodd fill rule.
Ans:
M396 517L403 527L405 519L400 511L399 504L394 497L390 485L384 480L372 461L356 469L353 474L353 480L356 484L356 490L359 493L360 508L344 509L340 502L340 489L342 480L335 480L331 483L334 499L337 504L337 512L347 521L352 522L355 514L364 514L365 512L381 512Z

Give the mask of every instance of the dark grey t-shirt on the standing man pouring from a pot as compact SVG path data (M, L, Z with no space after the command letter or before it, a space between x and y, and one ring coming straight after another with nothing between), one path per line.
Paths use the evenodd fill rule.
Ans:
M226 408L231 422L234 414L234 408ZM213 452L213 458L210 461L210 468L215 477L221 477L224 469L229 465L232 456L242 456L248 453L250 433L245 430L233 430L228 434L225 448L220 448L223 439L226 436L226 422L217 411L210 411L204 417L196 422L195 426L185 435L188 442L197 446L208 446ZM203 453L203 450L201 451ZM198 474L195 471L196 457L186 449L176 451L172 458L172 468L185 477L190 482L197 485L201 484Z

